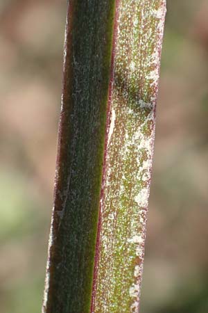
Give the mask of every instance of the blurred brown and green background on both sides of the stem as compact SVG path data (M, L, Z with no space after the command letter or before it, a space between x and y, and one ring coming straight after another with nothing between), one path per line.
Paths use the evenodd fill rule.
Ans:
M67 0L0 0L1 313L41 310ZM208 2L169 0L141 313L208 312Z

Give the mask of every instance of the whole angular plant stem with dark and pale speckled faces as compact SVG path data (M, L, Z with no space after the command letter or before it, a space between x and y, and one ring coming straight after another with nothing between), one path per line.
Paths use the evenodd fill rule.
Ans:
M139 312L165 12L69 2L44 313Z

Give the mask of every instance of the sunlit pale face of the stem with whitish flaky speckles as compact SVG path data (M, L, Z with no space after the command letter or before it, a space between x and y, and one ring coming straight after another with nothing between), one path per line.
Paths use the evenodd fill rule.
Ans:
M121 0L93 313L138 313L165 0Z

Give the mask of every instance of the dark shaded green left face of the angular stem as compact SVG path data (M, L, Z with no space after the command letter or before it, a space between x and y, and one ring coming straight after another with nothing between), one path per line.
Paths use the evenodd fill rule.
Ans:
M69 1L42 312L90 308L113 24L114 1Z

